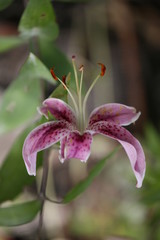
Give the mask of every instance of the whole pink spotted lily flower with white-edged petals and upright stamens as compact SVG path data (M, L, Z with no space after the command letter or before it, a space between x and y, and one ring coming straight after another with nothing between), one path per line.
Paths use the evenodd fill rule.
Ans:
M106 137L117 140L124 148L131 163L133 173L137 179L137 187L142 186L145 175L145 156L139 141L123 126L135 122L140 112L134 107L119 103L104 104L95 108L86 120L86 103L88 96L99 78L105 74L105 66L101 63L101 72L92 82L84 98L82 98L83 66L79 68L80 79L75 65L75 57L72 57L77 97L73 95L65 77L59 79L53 68L51 74L55 80L61 82L70 95L73 108L58 98L48 98L39 108L39 112L47 119L49 114L56 120L48 121L34 130L27 136L23 146L23 158L30 175L36 175L37 153L49 148L60 141L59 159L63 163L67 159L76 158L86 162L91 153L93 136L102 134Z

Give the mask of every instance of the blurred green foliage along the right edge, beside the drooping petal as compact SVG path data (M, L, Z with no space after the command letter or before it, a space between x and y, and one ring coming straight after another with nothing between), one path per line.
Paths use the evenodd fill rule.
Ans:
M153 124L145 126L145 147L148 153L147 172L141 201L147 206L146 228L148 239L159 240L160 219L160 134ZM154 232L154 235L153 235Z

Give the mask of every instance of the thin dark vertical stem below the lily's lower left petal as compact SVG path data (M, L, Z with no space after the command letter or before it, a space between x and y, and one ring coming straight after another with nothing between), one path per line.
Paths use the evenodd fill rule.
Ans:
M38 240L42 239L42 226L43 226L43 211L45 204L45 194L46 194L46 186L47 186L47 178L48 178L48 152L44 153L44 161L43 161L43 175L42 182L40 188L40 200L41 200L41 211L39 216L39 224L38 224Z

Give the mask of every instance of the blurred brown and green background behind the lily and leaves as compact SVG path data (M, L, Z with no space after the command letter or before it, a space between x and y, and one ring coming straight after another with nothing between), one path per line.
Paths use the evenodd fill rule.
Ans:
M0 12L0 36L18 35L26 4L27 1L15 0ZM77 65L85 66L86 88L96 76L97 62L106 65L105 77L91 93L88 112L106 102L123 103L141 111L140 119L128 129L144 147L147 171L142 188L136 189L129 161L119 150L108 160L101 175L73 202L46 202L44 239L160 240L160 2L57 0L52 5L59 36L53 46L41 43L41 60L48 68L56 65L57 72L63 75L59 51L68 61L75 55ZM39 55L36 43L32 47ZM22 44L0 54L0 99L30 50L28 44ZM52 54L56 56L54 62ZM53 87L47 84L45 97L52 91ZM21 131L20 127L1 136L1 165ZM116 146L113 140L95 137L87 166L76 160L61 165L58 151L51 151L47 194L52 198L64 196ZM40 168L36 182L25 187L14 201L32 198L41 176ZM12 181L14 176L9 178ZM37 223L38 216L24 226L0 227L0 239L36 239Z

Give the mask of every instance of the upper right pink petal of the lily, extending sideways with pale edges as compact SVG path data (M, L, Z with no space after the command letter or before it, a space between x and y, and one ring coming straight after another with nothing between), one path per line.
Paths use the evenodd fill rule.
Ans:
M136 113L136 109L133 107L118 103L109 103L93 110L89 118L89 125L98 121L107 121L125 126L135 122L139 116L140 112Z

